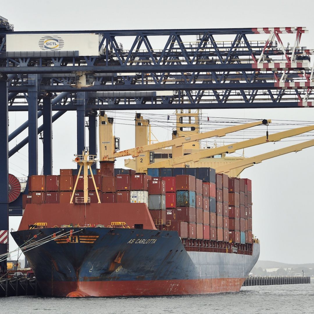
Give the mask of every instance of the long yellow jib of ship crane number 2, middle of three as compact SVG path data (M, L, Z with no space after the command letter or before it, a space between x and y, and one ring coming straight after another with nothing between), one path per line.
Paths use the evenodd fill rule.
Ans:
M268 138L267 136L261 136L261 137L252 138L243 142L238 142L238 143L225 145L221 147L206 149L198 153L188 154L188 155L184 155L184 156L177 157L174 159L167 159L165 161L159 161L157 163L150 164L146 167L144 166L140 169L139 172L147 171L147 168L171 167L173 165L182 164L189 161L194 161L194 162L199 161L202 158L207 158L207 157L222 154L222 153L234 153L238 149L256 146L256 145L268 143L268 142L277 142L283 138L288 138L291 136L299 135L299 134L306 133L313 130L314 130L314 126L298 127L292 130L271 134L269 135Z

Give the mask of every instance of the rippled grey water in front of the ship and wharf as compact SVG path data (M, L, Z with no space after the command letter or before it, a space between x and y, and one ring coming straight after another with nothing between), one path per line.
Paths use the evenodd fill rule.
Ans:
M242 287L238 293L150 298L0 298L0 313L313 314L314 283Z

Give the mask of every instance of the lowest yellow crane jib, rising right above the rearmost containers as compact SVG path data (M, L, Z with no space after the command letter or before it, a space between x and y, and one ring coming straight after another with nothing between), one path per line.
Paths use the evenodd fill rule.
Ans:
M249 168L255 164L261 163L263 160L267 160L270 158L278 157L284 154L289 154L292 152L299 152L302 149L309 148L314 146L314 139L310 141L306 141L303 143L291 145L288 147L284 147L281 149L273 150L272 152L260 154L254 157L249 157L245 159L241 159L235 162L231 162L227 165L221 165L216 167L216 173L225 173L227 175L231 176L239 176L240 173L246 169Z

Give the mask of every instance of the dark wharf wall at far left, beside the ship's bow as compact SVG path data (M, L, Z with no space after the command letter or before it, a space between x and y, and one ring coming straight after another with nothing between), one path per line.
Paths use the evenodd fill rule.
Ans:
M0 279L0 297L20 295L41 295L36 278Z

